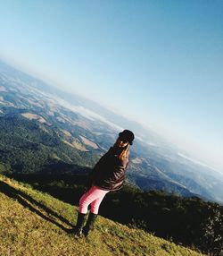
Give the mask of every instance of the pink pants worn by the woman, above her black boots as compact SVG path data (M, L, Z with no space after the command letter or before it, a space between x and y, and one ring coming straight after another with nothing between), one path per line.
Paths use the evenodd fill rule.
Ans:
M96 186L92 186L90 190L82 195L79 200L79 209L80 213L87 213L88 205L91 205L91 212L98 214L98 209L103 201L105 194L109 191L104 191Z

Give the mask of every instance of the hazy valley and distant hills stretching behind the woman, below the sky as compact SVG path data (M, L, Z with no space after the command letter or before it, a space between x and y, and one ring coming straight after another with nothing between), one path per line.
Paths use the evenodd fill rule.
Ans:
M57 164L65 164L66 172L74 166L92 167L124 124L136 133L128 168L130 182L146 191L199 195L223 203L223 175L182 157L176 147L140 124L0 61L0 164L4 173L42 172L49 166L59 171Z

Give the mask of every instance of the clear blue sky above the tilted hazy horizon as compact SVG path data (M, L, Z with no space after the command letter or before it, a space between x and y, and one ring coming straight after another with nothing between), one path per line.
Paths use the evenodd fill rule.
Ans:
M223 170L223 1L0 0L0 58Z

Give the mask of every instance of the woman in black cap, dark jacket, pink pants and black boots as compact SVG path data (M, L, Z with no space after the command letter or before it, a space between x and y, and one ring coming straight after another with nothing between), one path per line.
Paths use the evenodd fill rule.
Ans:
M119 133L119 138L97 162L89 175L89 190L79 200L78 221L72 233L88 235L98 214L98 209L106 193L122 187L128 166L129 147L135 136L129 130ZM91 205L87 224L84 226L88 206Z

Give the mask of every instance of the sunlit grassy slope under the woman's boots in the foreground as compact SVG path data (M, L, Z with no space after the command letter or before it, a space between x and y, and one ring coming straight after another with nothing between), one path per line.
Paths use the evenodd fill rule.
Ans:
M99 217L86 238L68 235L77 208L0 175L0 255L202 255Z

